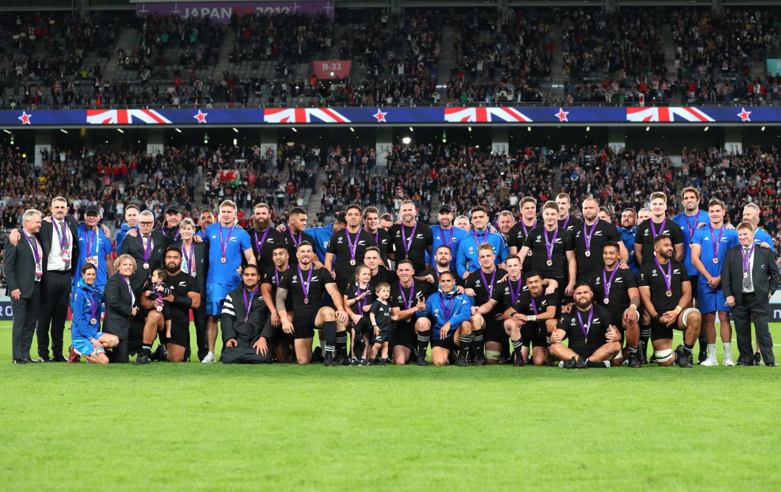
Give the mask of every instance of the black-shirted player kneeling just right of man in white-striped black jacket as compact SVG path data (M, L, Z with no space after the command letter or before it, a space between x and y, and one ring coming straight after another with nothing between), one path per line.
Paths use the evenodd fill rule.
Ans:
M271 260L273 266L263 272L263 280L260 284L260 293L263 296L263 302L269 310L269 317L266 319L266 332L269 327L273 331L274 352L276 360L279 362L292 363L295 360L295 338L292 334L282 331L282 321L280 313L276 310L276 288L280 285L282 276L290 268L287 248L283 244L277 244L271 251ZM287 309L287 320L293 322L293 298L288 296L285 300Z

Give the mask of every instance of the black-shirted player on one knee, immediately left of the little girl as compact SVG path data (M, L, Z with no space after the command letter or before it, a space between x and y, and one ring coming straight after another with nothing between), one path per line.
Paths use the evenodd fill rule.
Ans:
M366 233L365 233L366 234ZM330 271L312 264L315 252L308 242L298 244L298 265L280 277L276 288L276 311L280 314L282 331L295 336L295 353L299 364L312 359L312 338L322 329L325 338L324 366L348 365L347 323L342 296L333 282ZM323 306L323 293L328 292L336 310ZM293 298L293 319L287 317L285 301ZM336 360L335 354L339 359Z

